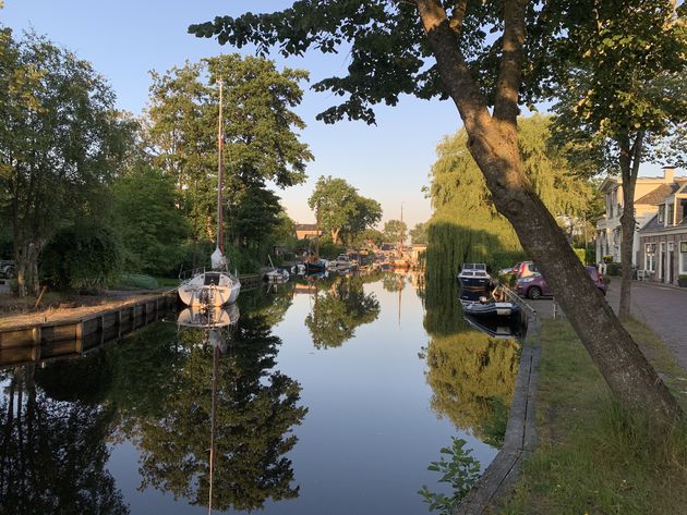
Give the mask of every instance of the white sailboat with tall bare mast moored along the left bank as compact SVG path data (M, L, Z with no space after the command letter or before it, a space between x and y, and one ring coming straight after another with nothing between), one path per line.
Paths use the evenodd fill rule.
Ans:
M229 272L225 257L225 238L222 223L222 95L219 83L219 123L217 130L218 165L217 165L217 247L210 256L212 270L195 272L191 279L179 285L179 298L186 306L225 306L237 302L241 291L239 278Z

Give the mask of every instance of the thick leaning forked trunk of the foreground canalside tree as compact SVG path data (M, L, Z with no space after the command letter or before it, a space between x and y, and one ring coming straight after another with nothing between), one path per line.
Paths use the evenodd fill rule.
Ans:
M503 57L493 114L460 53L458 34L467 0L451 20L435 0L415 0L446 93L468 133L468 147L484 174L497 210L538 262L582 344L616 398L659 421L682 409L592 283L565 234L525 175L518 148L518 91L525 41L525 0L504 1Z

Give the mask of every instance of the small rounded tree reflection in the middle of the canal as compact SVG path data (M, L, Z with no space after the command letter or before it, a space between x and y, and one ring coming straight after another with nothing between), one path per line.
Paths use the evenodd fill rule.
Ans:
M324 294L318 285L312 311L305 317L316 348L340 346L353 338L358 327L379 316L379 302L374 294L364 293L364 282L362 277L340 277Z

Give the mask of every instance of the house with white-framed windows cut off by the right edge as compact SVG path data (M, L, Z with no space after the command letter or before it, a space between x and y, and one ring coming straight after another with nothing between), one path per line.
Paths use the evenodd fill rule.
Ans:
M676 179L658 208L639 232L638 275L677 284L687 274L687 179Z

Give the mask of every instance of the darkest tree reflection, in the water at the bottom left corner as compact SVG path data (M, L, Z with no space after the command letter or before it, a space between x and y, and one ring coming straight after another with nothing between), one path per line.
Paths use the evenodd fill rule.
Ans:
M70 364L76 367L71 376ZM80 400L80 392L68 398L59 383L62 379L76 385L73 372L94 369L76 364L60 364L60 375L50 373L48 366L40 377L26 366L1 378L9 384L0 401L0 513L129 513L105 469L113 413L93 402L107 384L97 376L82 377L80 391L85 395ZM50 398L46 391L60 392L62 400Z

